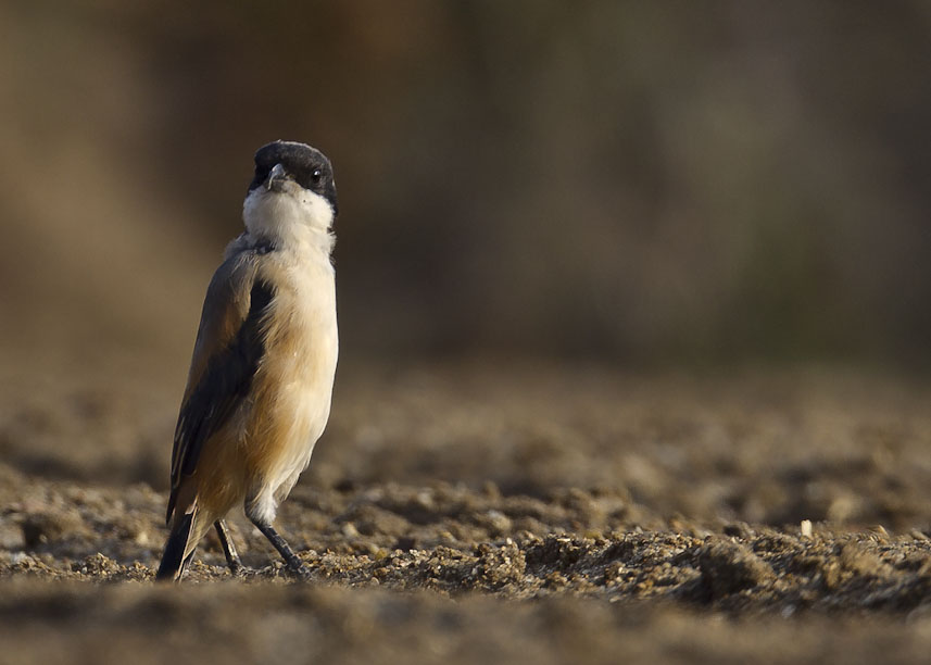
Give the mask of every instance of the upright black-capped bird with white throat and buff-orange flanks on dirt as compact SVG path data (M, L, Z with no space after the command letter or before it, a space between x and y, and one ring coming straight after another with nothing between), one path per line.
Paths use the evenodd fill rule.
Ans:
M246 230L206 290L172 449L159 580L180 581L216 529L243 570L227 514L246 516L298 577L311 572L273 526L329 419L339 354L332 165L295 141L259 149Z

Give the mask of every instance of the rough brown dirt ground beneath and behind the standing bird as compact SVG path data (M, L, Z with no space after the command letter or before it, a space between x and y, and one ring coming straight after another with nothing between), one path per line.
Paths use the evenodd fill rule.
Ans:
M178 388L179 389L179 388ZM153 585L174 392L7 381L3 663L846 663L931 653L931 384L341 368L278 524Z

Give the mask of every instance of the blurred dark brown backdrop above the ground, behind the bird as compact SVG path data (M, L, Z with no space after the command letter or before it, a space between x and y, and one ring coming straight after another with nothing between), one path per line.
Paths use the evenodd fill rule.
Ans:
M0 362L177 388L278 138L343 361L924 362L929 72L919 0L7 1Z

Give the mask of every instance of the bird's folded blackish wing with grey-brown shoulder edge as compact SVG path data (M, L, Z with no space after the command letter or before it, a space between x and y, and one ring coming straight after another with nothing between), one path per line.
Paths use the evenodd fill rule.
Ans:
M249 393L264 353L261 319L271 286L256 277L256 253L230 256L210 283L172 450L171 519L178 488L197 468L204 441Z

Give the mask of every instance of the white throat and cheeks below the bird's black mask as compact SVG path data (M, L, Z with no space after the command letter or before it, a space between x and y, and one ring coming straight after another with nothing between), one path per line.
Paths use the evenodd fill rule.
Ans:
M282 192L256 187L242 203L246 229L280 249L319 249L329 256L334 246L334 210L322 196L288 183Z

